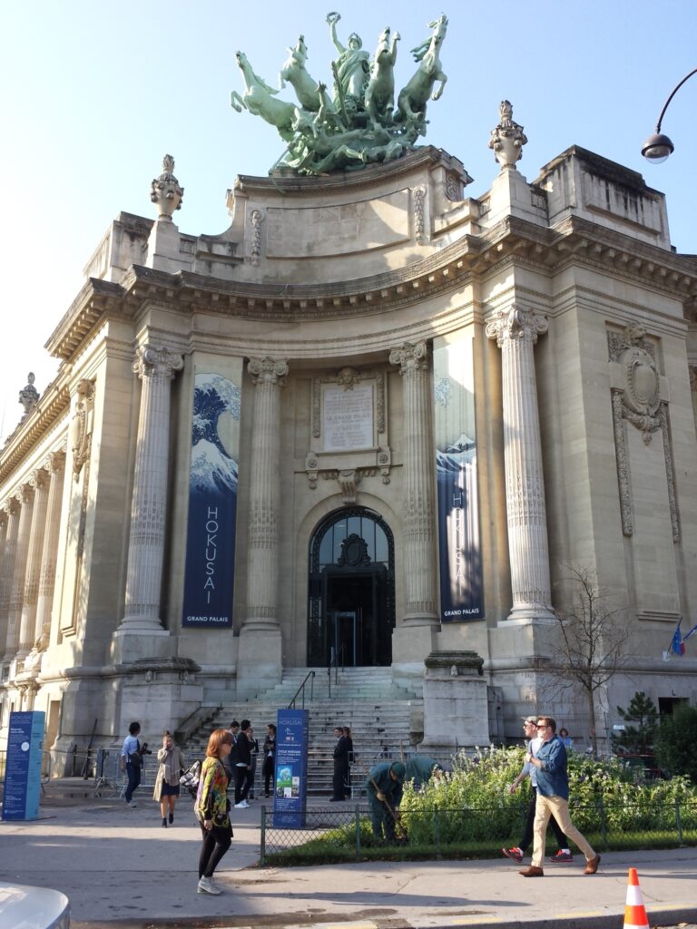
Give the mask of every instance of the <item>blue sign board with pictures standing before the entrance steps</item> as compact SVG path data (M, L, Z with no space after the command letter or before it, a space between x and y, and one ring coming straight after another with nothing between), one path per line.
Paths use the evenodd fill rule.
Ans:
M276 716L276 771L273 825L303 829L308 796L307 710L279 710Z

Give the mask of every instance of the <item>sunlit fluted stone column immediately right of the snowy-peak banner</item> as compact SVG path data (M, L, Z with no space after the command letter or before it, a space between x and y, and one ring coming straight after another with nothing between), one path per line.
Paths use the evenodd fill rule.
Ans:
M501 349L506 513L513 608L508 620L551 622L549 549L533 346L548 323L515 305L487 322Z

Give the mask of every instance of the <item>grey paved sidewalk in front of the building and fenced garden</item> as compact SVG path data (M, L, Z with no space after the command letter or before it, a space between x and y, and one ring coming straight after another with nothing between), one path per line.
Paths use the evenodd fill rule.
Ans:
M169 829L148 796L137 809L81 799L45 805L33 822L0 822L0 881L62 891L73 929L621 929L627 869L636 867L651 926L697 922L694 848L609 853L594 877L579 857L534 881L504 858L257 869L259 804L232 814L221 896L196 893L200 832L188 798Z

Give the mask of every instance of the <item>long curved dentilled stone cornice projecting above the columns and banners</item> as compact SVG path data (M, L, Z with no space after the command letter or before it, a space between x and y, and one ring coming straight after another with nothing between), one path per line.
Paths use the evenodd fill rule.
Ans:
M299 178L302 180L302 178ZM72 359L105 315L133 318L160 305L184 314L204 312L258 321L327 321L399 310L462 287L502 264L557 273L571 264L648 285L697 306L697 261L570 216L553 229L507 216L481 235L464 235L402 268L351 281L286 284L222 281L191 271L133 265L118 283L90 279L46 347ZM694 311L692 311L694 312Z

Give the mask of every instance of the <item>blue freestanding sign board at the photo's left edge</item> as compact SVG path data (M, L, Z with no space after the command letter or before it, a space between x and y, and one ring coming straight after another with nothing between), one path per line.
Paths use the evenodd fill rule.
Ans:
M46 713L10 713L3 819L36 819Z

